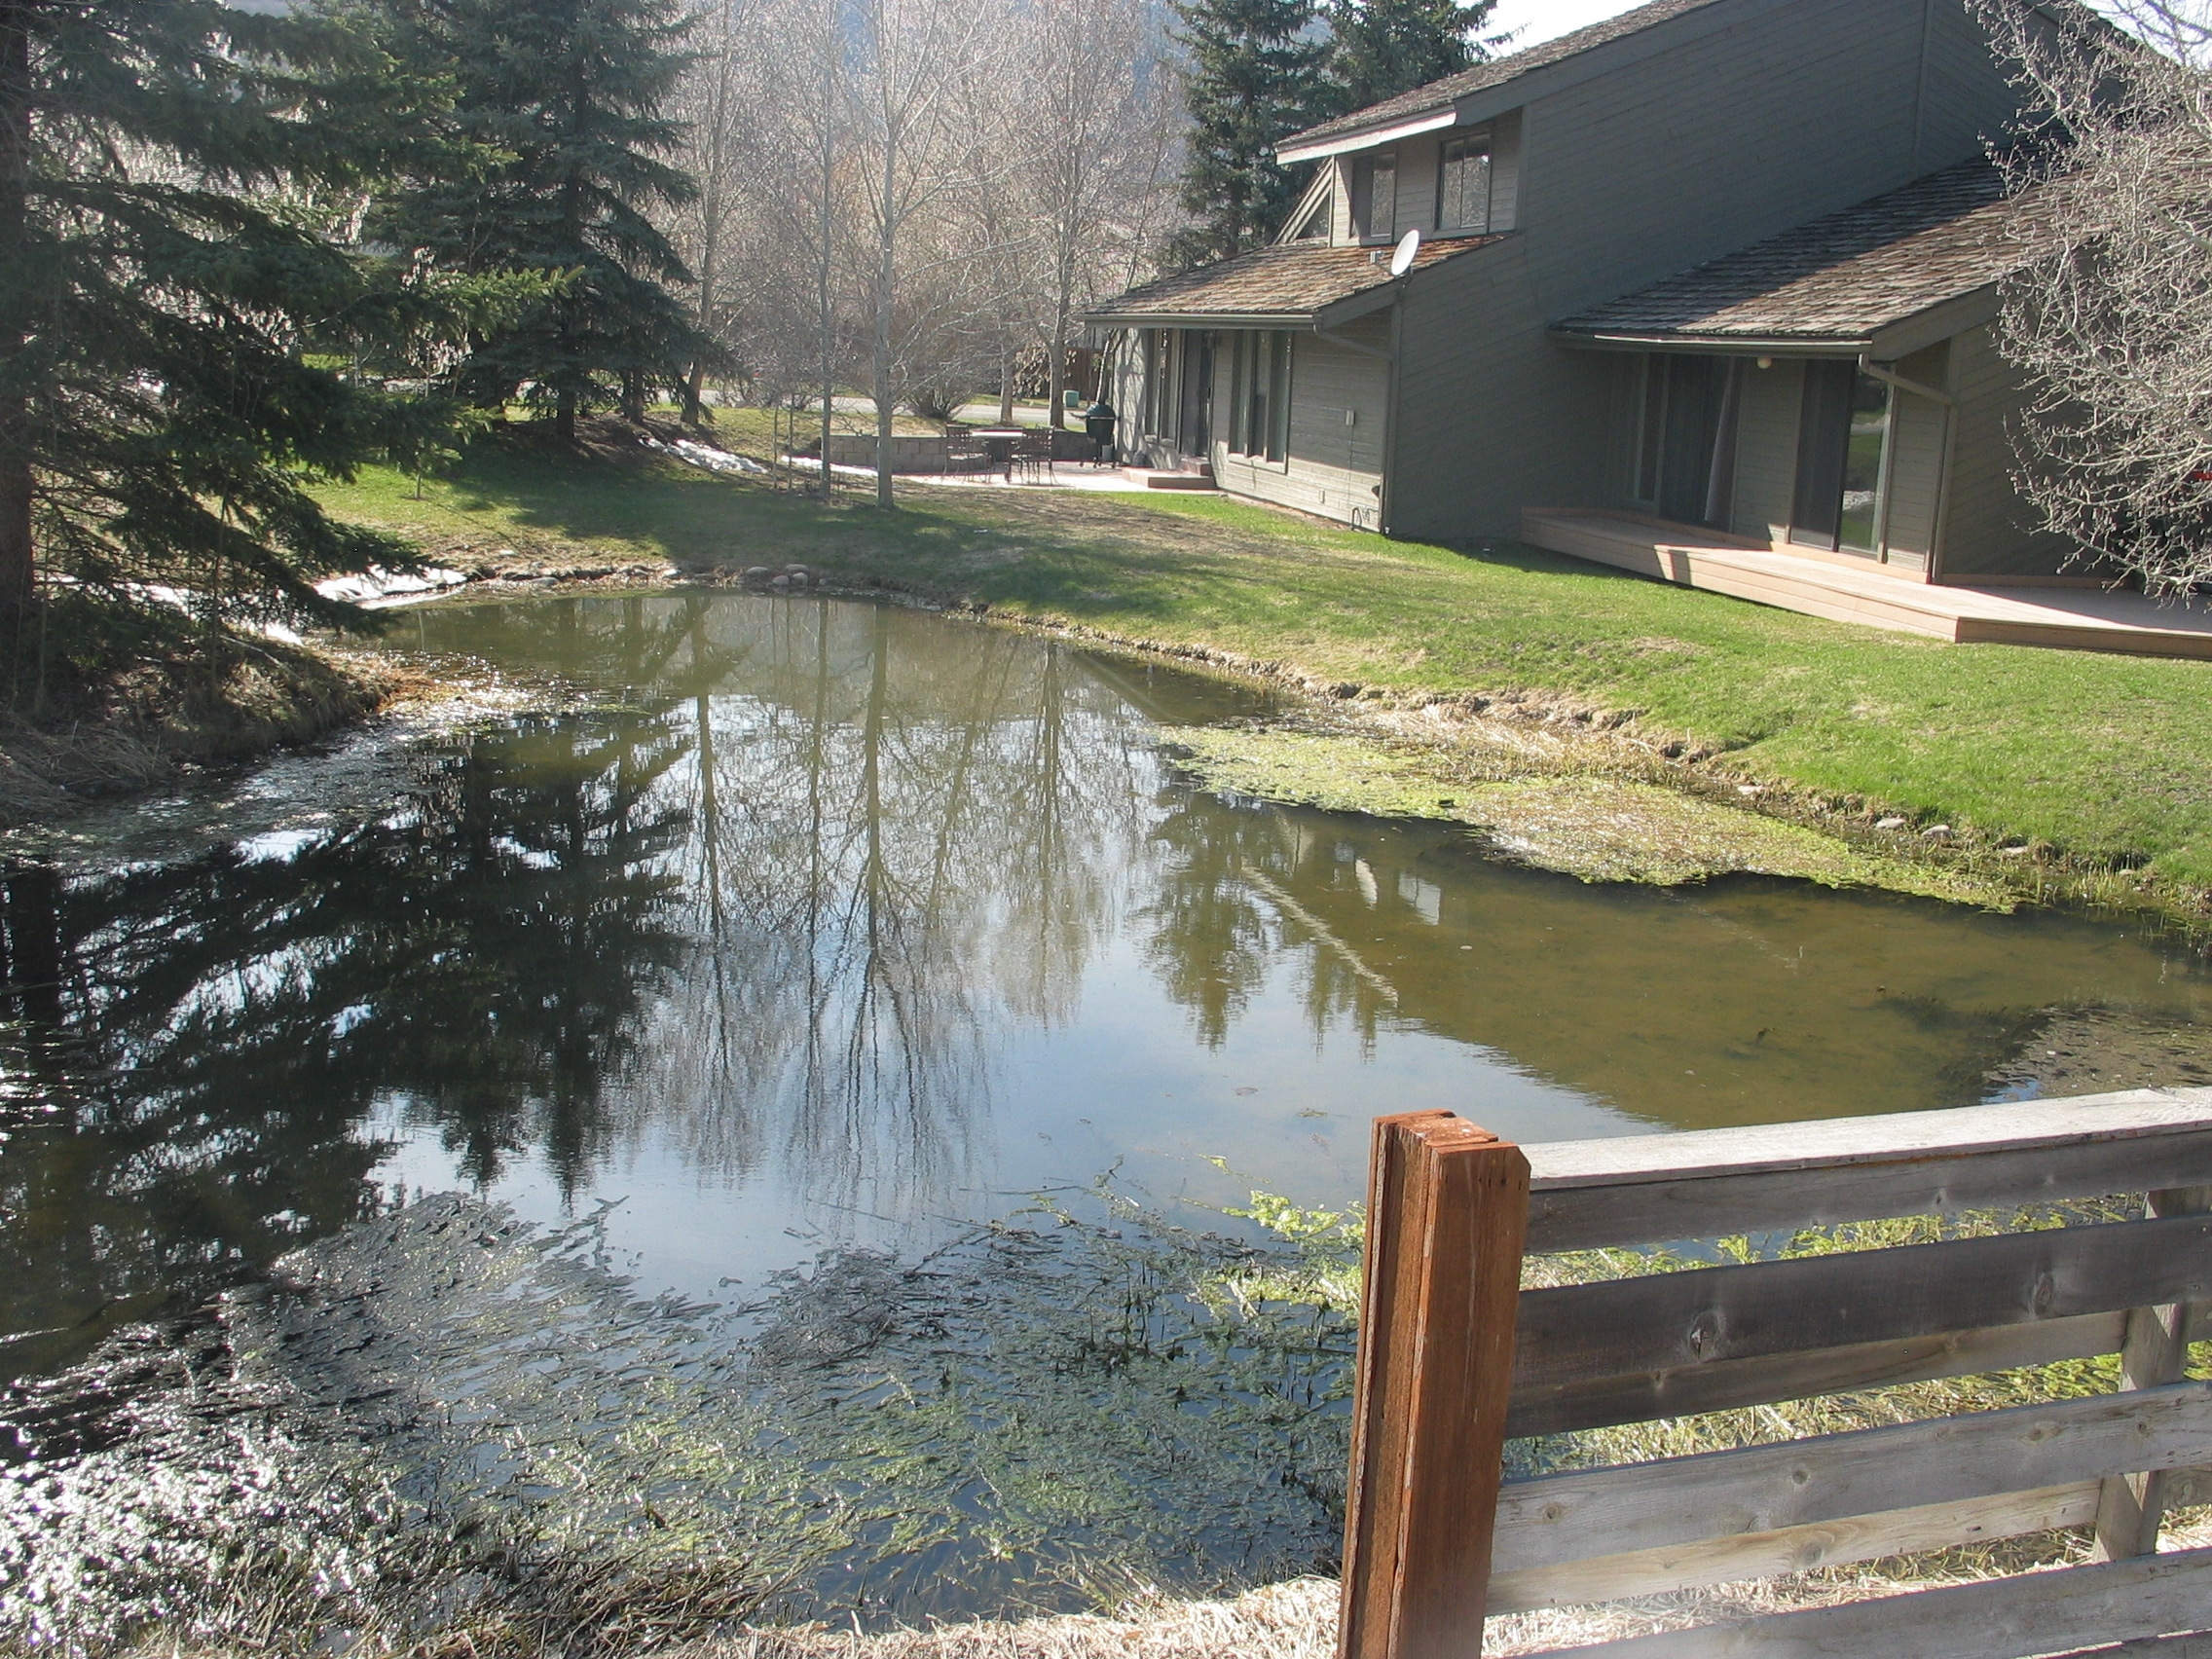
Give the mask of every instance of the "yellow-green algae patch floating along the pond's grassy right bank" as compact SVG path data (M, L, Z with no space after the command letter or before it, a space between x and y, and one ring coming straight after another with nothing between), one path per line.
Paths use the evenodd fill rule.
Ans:
M2004 894L1969 876L1867 854L1820 830L1657 783L1590 774L1469 779L1440 752L1323 732L1177 726L1161 737L1210 790L1464 823L1515 863L1590 883L1679 887L1743 872L2011 909Z

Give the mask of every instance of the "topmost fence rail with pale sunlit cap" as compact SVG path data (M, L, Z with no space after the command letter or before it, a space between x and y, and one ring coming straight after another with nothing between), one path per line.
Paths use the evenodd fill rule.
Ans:
M1944 1214L2212 1181L2212 1088L1551 1141L1528 1250Z

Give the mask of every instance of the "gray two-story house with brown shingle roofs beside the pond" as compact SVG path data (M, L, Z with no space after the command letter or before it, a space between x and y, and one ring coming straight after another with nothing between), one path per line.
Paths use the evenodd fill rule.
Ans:
M1652 0L1298 133L1274 246L1091 316L1124 449L1659 573L1694 526L2062 580L1991 345L2017 97L1966 0Z

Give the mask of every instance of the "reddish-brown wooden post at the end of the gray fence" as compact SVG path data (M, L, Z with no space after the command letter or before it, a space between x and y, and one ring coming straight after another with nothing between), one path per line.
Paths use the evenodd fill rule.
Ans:
M1378 1117L1345 1493L1340 1659L1478 1659L1528 1159L1453 1113Z

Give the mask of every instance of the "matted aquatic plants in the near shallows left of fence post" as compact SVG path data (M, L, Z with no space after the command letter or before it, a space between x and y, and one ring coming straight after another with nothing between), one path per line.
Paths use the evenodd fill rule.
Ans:
M0 1641L622 1652L1327 1571L1352 1332L1267 1272L1082 1194L710 1310L422 1199L13 1391Z

